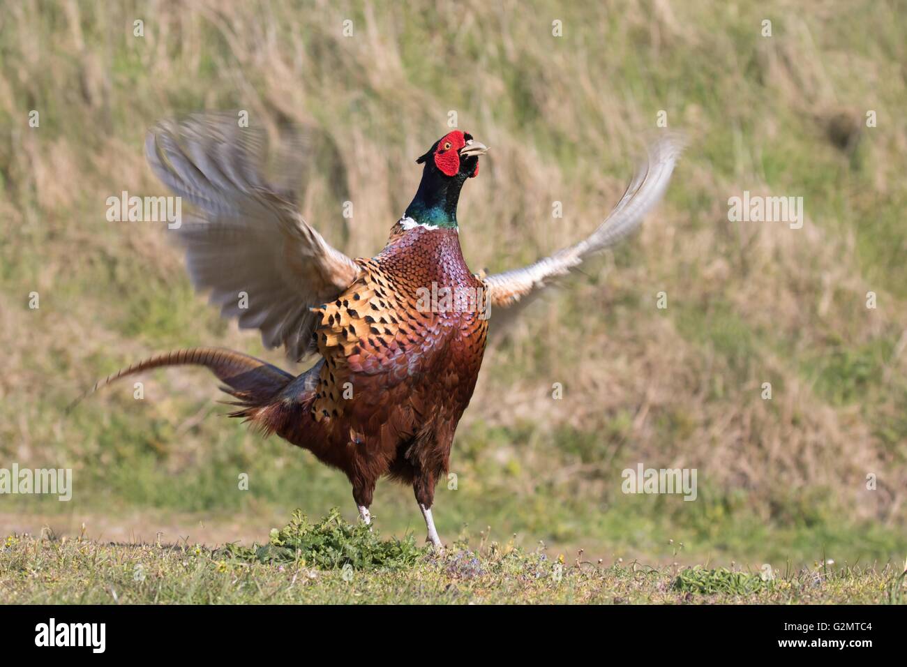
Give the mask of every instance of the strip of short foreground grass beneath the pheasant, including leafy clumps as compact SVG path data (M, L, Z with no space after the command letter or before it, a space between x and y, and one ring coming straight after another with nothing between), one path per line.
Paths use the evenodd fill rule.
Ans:
M814 564L764 569L606 564L459 541L444 554L381 540L331 513L294 515L268 544L99 544L53 534L6 537L0 591L8 603L903 603L892 567Z

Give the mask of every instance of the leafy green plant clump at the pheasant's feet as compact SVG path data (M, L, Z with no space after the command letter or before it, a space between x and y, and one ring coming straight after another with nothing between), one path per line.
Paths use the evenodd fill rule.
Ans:
M382 540L377 529L362 523L350 524L336 507L317 523L309 523L300 510L288 525L271 530L268 544L251 547L227 544L215 558L231 556L259 563L301 563L323 570L403 570L412 567L427 552L416 546L413 535L404 539Z

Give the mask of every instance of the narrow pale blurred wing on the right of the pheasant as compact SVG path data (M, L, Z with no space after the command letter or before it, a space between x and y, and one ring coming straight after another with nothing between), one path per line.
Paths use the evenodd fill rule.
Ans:
M523 302L529 300L526 298L534 297L552 280L570 273L591 255L610 248L635 231L668 189L683 145L682 138L676 134L653 142L647 160L640 165L617 206L588 238L521 269L487 276L485 289L492 309L513 306L521 299Z

